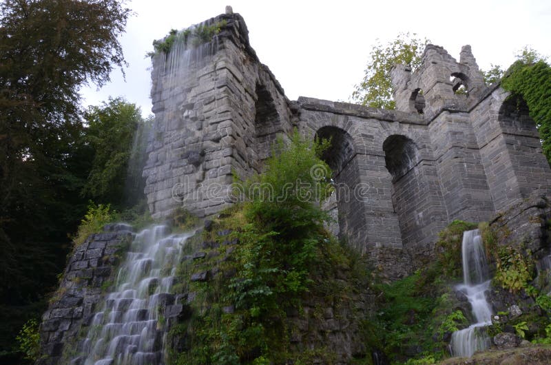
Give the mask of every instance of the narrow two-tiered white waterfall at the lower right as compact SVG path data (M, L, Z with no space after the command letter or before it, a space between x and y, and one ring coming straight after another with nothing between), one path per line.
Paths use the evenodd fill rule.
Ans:
M492 323L492 309L484 293L490 286L488 264L478 229L463 233L461 253L464 284L457 286L457 290L467 296L477 322L455 331L452 334L451 348L453 356L470 357L475 351L490 346L490 338L483 328Z

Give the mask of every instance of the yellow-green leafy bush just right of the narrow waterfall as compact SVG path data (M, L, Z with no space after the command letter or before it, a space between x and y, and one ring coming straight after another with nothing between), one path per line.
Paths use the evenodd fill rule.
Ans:
M496 272L495 282L500 284L503 289L508 289L515 293L520 289L526 288L528 282L532 280L533 262L530 254L526 257L523 253L514 247L499 247L495 254Z

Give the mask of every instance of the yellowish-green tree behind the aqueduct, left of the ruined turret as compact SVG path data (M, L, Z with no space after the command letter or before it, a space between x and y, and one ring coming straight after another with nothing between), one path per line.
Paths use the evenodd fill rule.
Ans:
M368 107L394 109L391 70L394 65L410 65L413 70L421 64L421 57L428 39L417 38L417 34L399 33L394 41L382 45L379 40L369 54L364 79L352 93L355 103Z

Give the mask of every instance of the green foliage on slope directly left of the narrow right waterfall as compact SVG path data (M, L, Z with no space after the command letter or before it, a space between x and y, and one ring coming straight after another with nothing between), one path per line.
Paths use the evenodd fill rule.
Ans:
M381 292L375 333L391 362L433 364L447 354L444 334L468 324L449 282L461 278L463 233L475 228L475 223L451 222L439 233L436 260L402 280L375 286ZM404 351L408 346L420 346L424 357L411 359Z

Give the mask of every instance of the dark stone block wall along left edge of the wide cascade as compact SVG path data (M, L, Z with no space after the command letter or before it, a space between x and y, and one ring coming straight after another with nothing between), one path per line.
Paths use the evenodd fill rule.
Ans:
M68 364L78 353L81 328L92 320L103 297L102 286L112 278L116 265L131 242L127 225L107 225L105 232L89 236L76 247L50 300L40 326L39 365Z

